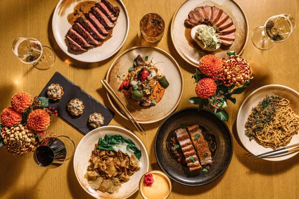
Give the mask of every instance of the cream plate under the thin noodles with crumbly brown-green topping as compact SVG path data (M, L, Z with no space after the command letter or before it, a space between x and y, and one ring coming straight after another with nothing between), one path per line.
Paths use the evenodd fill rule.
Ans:
M259 101L263 100L266 96L280 96L284 99L290 100L289 106L296 114L299 114L299 93L294 89L282 85L267 85L252 92L240 106L236 124L238 136L241 143L246 148L246 150L248 150L253 155L259 155L274 150L272 148L266 148L258 144L255 140L250 141L249 138L245 135L245 123L247 121L248 116L251 113L252 108L258 105ZM299 143L298 133L293 135L291 142L286 146L290 146L297 143ZM292 158L298 153L299 151L263 159L269 161L282 161Z

